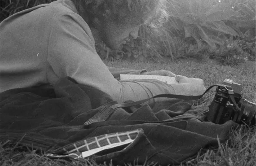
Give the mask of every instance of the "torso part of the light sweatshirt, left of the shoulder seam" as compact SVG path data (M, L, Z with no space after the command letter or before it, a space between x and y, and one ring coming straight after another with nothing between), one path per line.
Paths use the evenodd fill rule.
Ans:
M56 7L71 12L63 5ZM0 23L0 92L48 83L47 55L53 17L52 7L42 4Z

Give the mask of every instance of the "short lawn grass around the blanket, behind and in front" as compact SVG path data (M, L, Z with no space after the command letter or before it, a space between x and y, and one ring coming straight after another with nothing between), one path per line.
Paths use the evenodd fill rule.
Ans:
M166 61L166 63L131 63L130 61L104 61L107 66L124 67L147 70L171 70L175 74L187 77L203 79L205 86L221 83L224 79L231 79L243 84L243 98L256 102L256 65L247 62L239 66L221 66L211 59L205 61L193 61L183 59L181 61ZM215 90L208 92L200 105L208 105ZM0 143L0 166L28 166L28 165L54 165L54 166L97 166L93 161L65 161L50 160L38 155L35 151L26 147L18 147L18 144L10 142ZM219 147L201 149L196 157L181 163L180 166L254 166L256 165L256 128L243 125L240 129L233 130L230 138ZM111 166L106 163L104 166Z

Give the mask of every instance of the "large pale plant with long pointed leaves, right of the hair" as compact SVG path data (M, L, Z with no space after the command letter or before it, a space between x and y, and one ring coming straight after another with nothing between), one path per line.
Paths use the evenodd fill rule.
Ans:
M170 21L165 27L184 38L193 37L197 43L202 41L216 48L223 44L225 35L237 36L238 33L225 20L238 16L230 2L214 0L170 0Z

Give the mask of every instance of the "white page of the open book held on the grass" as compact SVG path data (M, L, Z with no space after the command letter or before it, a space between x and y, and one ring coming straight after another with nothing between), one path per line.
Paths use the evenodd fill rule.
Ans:
M120 80L127 79L156 79L168 84L177 84L175 77L163 76L163 75L137 75L137 74L120 74Z

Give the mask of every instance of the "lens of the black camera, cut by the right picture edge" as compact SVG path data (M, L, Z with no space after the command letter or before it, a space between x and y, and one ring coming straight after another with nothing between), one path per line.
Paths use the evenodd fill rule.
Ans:
M256 103L253 103L246 99L241 99L238 104L241 108L241 112L243 112L240 120L245 122L247 125L256 124ZM238 122L242 123L242 122Z

